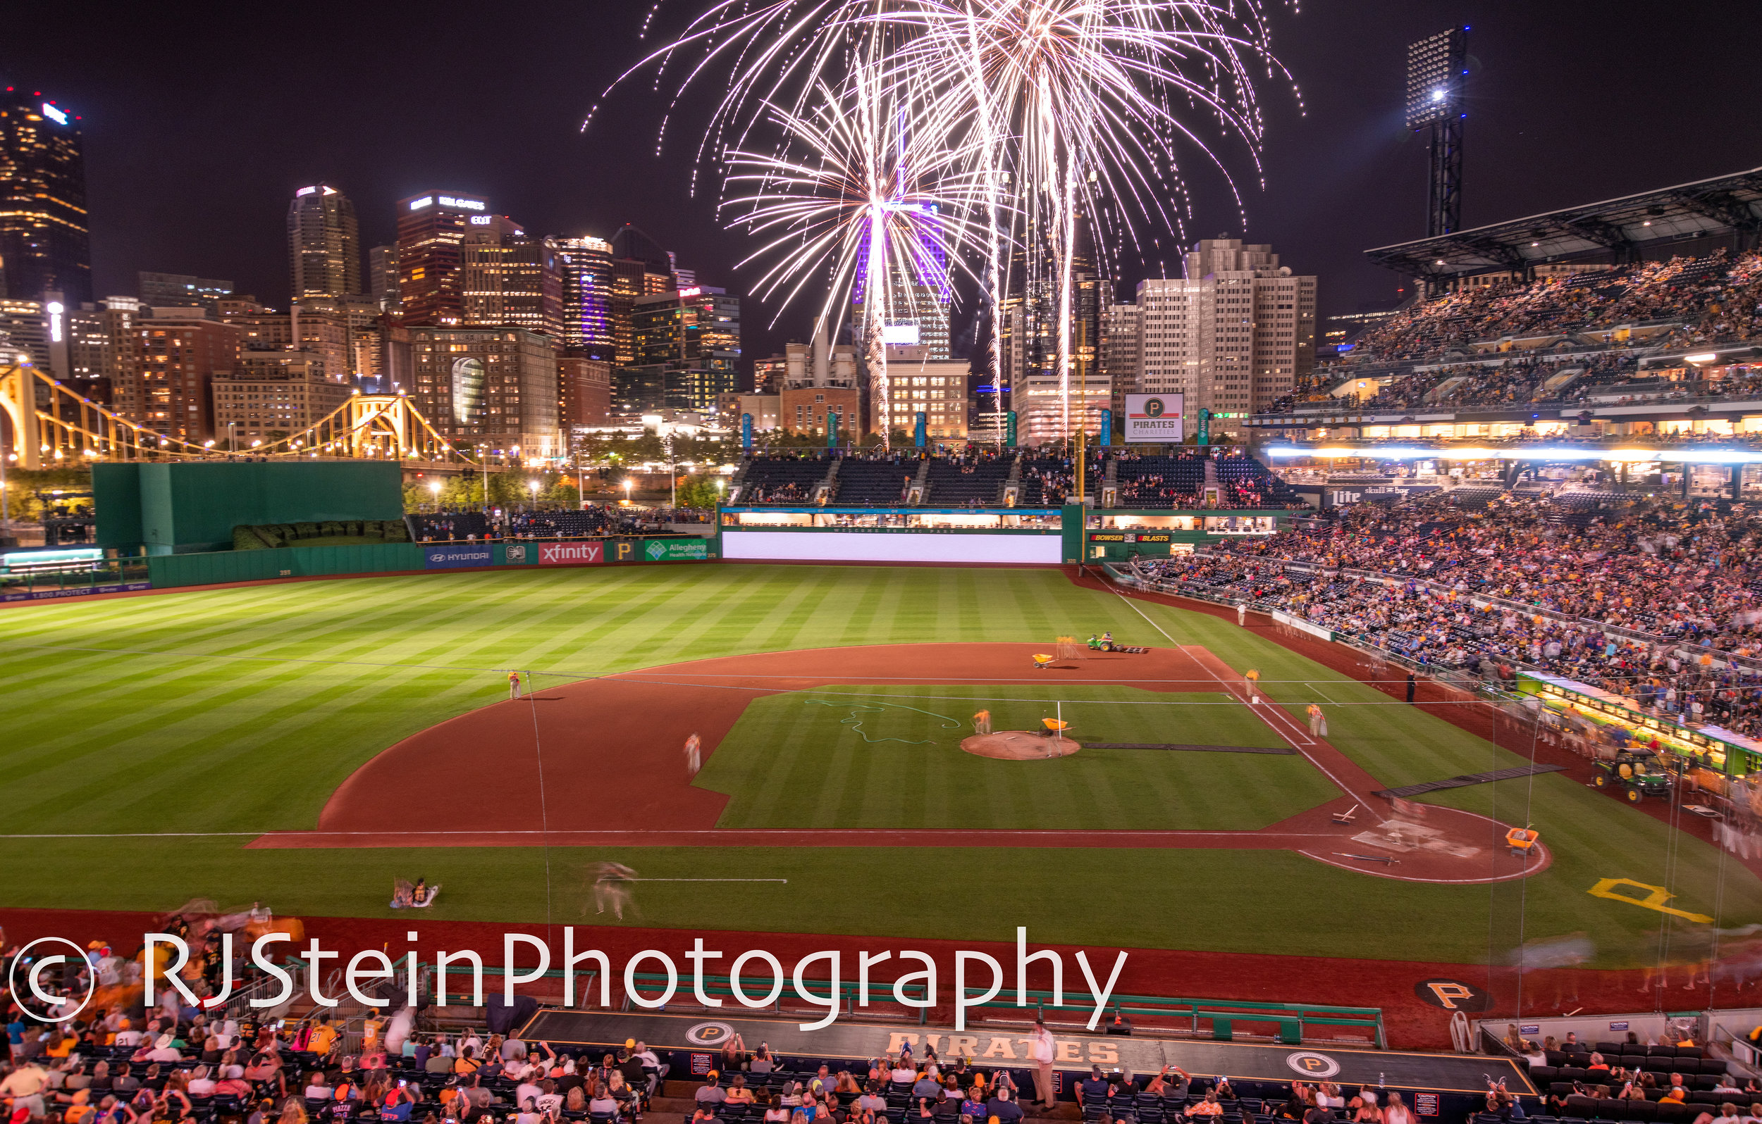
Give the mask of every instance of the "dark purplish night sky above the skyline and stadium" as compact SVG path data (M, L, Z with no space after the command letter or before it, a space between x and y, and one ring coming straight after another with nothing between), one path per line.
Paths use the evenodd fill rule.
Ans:
M659 28L708 0L666 0ZM744 292L742 234L691 194L703 99L655 153L670 90L606 85L645 53L641 0L296 5L18 4L0 79L83 116L95 289L134 294L137 270L233 278L287 301L284 217L294 189L354 199L363 245L393 238L393 201L486 196L534 233L610 238L634 222L700 280ZM1362 261L1424 234L1424 141L1401 125L1406 44L1468 23L1466 226L1762 166L1762 5L1547 0L1314 0L1274 7L1274 48L1307 115L1265 90L1265 189L1239 148L1246 236L1320 277L1322 312L1396 296ZM1216 173L1188 160L1184 240L1242 236ZM1145 231L1173 245L1170 231ZM1170 266L1179 270L1175 257ZM1156 261L1122 261L1121 296ZM747 305L745 352L805 335L805 310Z

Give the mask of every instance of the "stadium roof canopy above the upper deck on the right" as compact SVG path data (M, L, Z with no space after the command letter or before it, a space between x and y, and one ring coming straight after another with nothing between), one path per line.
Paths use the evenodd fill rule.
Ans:
M1454 278L1609 254L1639 261L1655 243L1762 229L1762 167L1528 218L1366 250L1404 277Z

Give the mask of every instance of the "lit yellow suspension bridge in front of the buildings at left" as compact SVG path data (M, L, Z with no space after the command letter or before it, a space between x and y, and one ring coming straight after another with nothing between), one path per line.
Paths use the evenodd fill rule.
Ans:
M67 460L213 460L215 442L167 437L111 412L30 363L0 366L0 410L19 469ZM403 395L354 395L310 428L254 446L250 456L377 458L432 465L478 462L435 432Z

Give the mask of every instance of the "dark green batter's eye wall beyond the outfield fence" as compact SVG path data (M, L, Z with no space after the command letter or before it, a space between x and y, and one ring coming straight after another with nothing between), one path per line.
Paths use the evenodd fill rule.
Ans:
M403 518L395 462L150 462L92 465L95 544L118 553L231 550L241 523Z

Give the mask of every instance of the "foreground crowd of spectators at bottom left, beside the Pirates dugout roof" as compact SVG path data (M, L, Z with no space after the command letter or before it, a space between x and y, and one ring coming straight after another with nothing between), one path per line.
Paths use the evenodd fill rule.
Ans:
M171 921L199 953L190 987L210 994L203 921ZM19 955L9 950L0 967ZM206 1011L171 988L146 1008L144 953L129 960L95 943L55 983L74 994L90 983L107 999L62 1022L7 1002L0 1103L11 1124L634 1124L666 1075L641 1043L529 1048L495 1032L493 1017L488 1031L414 1032L409 1011L271 1018L243 1004ZM234 976L245 974L241 962Z

